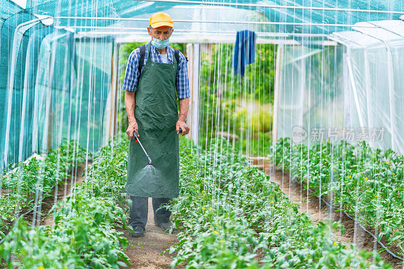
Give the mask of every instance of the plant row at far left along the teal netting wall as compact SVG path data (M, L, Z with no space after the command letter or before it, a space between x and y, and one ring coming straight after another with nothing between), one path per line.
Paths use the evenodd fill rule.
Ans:
M20 219L39 224L44 201L52 201L52 192L83 163L85 148L74 141L65 141L44 157L33 156L20 164L10 164L0 179L0 239ZM3 193L3 190L6 190Z

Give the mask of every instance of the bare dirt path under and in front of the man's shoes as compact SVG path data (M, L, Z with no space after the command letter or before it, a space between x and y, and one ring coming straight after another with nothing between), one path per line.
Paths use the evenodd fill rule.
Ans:
M124 236L129 241L125 254L130 258L130 268L171 268L170 263L173 260L171 256L175 254L168 254L168 252L161 253L178 243L178 231L174 231L171 235L168 233L165 234L161 228L155 225L153 217L151 198L148 198L148 216L144 237L133 238L129 236L127 230L123 231Z

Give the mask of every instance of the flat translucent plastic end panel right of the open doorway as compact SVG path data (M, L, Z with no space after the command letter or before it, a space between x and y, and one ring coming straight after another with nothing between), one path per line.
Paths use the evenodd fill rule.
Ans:
M279 46L274 142L316 142L344 127L343 47Z

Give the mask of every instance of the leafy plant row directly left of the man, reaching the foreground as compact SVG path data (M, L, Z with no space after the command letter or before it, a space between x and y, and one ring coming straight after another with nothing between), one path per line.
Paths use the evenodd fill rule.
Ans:
M0 245L5 265L22 268L118 268L128 257L125 201L127 141L116 138L94 158L86 181L77 183L72 194L54 206L53 227L33 230L23 221Z

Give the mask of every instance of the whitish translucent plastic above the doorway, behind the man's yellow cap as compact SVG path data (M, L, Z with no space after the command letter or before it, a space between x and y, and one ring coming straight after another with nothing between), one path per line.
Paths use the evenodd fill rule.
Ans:
M174 6L164 12L175 18L175 35L172 36L174 42L201 42L210 40L211 42L234 43L234 29L262 32L261 38L265 38L265 34L269 34L271 30L274 30L272 25L265 23L269 23L269 19L264 14L233 7L182 5ZM144 18L150 17L151 14L153 12L133 16L133 20L130 21L122 20L119 24L112 25L112 29L119 25L125 29L138 31L136 34L128 34L123 38L124 41L148 40L150 39L146 31L148 20Z

